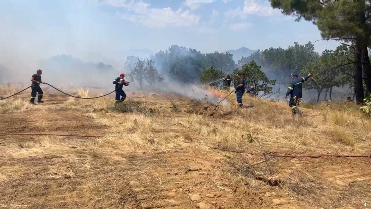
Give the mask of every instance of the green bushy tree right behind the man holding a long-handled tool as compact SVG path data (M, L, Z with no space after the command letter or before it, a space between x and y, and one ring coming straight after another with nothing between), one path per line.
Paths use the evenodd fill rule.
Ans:
M263 92L260 96L266 96L272 93L272 86L275 85L276 80L269 80L255 61L243 65L241 70L236 69L233 71L232 79L234 83L237 83L238 80L237 73L241 73L242 78L245 80L246 89L250 88L250 86L254 86L257 92Z

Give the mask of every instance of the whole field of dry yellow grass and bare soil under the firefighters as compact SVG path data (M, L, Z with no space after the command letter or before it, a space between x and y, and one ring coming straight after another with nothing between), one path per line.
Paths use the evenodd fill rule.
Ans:
M1 86L0 95L19 87ZM44 89L43 89L44 90ZM79 89L82 97L98 95ZM221 92L226 95L226 92ZM0 208L365 208L366 158L275 154L371 152L371 119L352 102L306 104L243 96L215 107L163 92L71 99L44 90L0 101ZM367 205L367 207L370 207Z

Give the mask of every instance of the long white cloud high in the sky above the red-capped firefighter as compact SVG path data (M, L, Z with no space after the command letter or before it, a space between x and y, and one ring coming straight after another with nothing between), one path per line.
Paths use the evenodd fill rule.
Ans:
M174 11L170 7L150 8L150 4L142 1L105 0L105 3L127 9L128 13L120 13L122 19L140 23L148 28L198 25L200 20L199 16L192 14L189 10Z

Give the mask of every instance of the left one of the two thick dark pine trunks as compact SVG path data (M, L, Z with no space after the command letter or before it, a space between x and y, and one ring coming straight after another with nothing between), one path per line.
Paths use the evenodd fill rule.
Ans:
M354 92L357 103L363 102L364 90L362 83L362 36L357 35L355 40L355 53L354 53Z

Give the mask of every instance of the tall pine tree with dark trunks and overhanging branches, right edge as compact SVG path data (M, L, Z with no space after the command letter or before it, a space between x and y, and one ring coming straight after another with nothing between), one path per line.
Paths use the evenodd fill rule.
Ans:
M352 65L352 79L357 102L371 93L371 3L368 0L270 0L273 8L285 15L311 21L318 26L324 40L338 40L351 49L352 59L337 65ZM331 69L333 70L333 69ZM331 73L329 73L331 74Z

